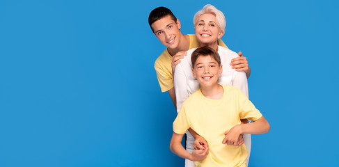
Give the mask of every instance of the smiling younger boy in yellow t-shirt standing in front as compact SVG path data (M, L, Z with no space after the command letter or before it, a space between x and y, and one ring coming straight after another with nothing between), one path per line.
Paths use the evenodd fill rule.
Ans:
M221 86L222 72L219 54L210 47L200 47L191 55L192 72L200 84L182 104L173 122L171 151L195 161L196 166L246 166L247 150L239 145L240 134L269 132L269 123L241 90ZM253 120L241 124L241 119ZM206 139L209 148L189 153L181 145L187 129L193 129ZM203 146L203 145L202 145ZM203 146L204 147L204 146Z

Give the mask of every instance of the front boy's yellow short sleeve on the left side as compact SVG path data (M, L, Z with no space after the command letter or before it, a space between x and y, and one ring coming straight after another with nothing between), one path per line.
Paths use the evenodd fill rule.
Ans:
M180 109L177 118L173 122L173 132L177 134L184 134L189 129L189 123L186 117L184 106Z

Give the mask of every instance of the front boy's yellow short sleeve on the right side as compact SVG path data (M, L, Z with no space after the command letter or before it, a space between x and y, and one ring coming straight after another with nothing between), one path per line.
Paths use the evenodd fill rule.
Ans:
M240 90L236 92L239 100L239 117L240 119L258 120L262 114L255 108L254 104Z

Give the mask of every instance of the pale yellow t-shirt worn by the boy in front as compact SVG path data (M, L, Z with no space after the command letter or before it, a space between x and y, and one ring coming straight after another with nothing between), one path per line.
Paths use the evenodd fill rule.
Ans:
M196 161L196 166L244 166L247 150L245 145L233 146L221 143L224 133L241 119L258 120L262 114L252 102L233 86L223 85L223 97L208 99L197 90L182 104L173 122L173 132L184 134L189 127L206 139L210 151L206 159Z

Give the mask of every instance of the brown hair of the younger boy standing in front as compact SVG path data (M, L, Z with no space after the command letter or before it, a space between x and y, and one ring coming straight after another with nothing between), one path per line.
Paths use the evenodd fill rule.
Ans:
M210 47L199 47L195 51L193 51L191 56L192 66L194 67L194 64L196 63L196 59L198 59L199 56L211 56L214 58L214 60L221 65L220 56L217 51Z

